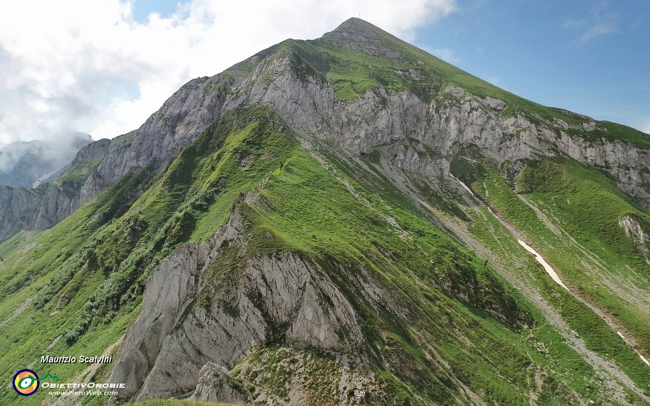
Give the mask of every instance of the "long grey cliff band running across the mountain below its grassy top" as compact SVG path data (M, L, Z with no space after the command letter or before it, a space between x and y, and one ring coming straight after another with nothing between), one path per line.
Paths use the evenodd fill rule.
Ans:
M354 42L350 41L372 38L374 34L357 25L342 26L317 41L352 46ZM370 55L389 53L387 48L378 46L361 50ZM320 75L300 75L300 66L307 62L298 53L253 59L256 67L244 79L216 75L194 79L181 88L138 130L133 142L109 151L108 158L84 185L81 201L97 195L129 170L144 167L153 159L168 160L227 109L263 103L306 138L335 142L352 154L366 154L413 137L433 148L447 164L462 146L471 144L498 163L567 156L606 170L622 190L645 206L650 205L646 190L650 175L643 170L650 165L650 152L623 141L586 141L570 133L571 129L597 129L593 121L574 125L537 116L532 122L522 114L505 115L504 100L480 98L453 85L430 103L424 103L409 90L391 91L382 86L344 102Z

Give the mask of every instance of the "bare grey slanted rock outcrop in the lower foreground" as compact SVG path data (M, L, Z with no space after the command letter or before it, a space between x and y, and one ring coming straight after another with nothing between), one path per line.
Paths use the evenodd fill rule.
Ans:
M223 377L201 381L205 368L227 372L256 345L274 340L340 353L364 345L350 303L319 265L295 254L240 258L237 269L214 280L215 259L242 243L235 212L211 239L183 243L161 262L112 372L111 382L127 385L116 399L196 391L196 399L239 400ZM220 301L205 303L206 297Z

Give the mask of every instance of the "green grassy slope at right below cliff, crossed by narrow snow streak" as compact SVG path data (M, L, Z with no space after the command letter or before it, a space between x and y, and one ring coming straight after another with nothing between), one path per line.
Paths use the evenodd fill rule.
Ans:
M483 163L476 165L476 161ZM376 170L372 159L369 159L367 164ZM634 200L617 189L616 185L598 170L566 159L545 161L542 164L531 161L528 165L528 169L522 171L517 185L519 188L526 188L538 182L538 185L547 186L546 189L536 186L534 193L525 196L536 201L541 193L553 193L554 202L549 198L546 206L538 206L552 221L557 223L558 217L562 219L561 224L558 223L564 227L562 237L555 236L535 211L517 198L512 190L515 185L501 178L499 172L493 169L486 159L480 156L472 156L471 161L454 159L452 173L471 184L474 191L482 196L500 217L523 230L525 235L532 239L534 247L542 252L560 275L564 275L565 282L577 291L580 297L603 310L605 315L614 321L614 328L632 338L636 348L647 355L647 326L650 325L647 312L649 267L645 262L645 254L632 239L625 236L625 232L618 225L620 217L632 214L645 228L647 215L638 208ZM536 168L536 165L557 165L564 172L551 176ZM372 176L364 174L363 169L354 165L348 165L346 170L360 182L370 183L369 179L372 179ZM499 272L504 275L522 273L523 276L519 277L534 288L530 294L545 298L556 314L562 316L567 325L584 339L588 349L604 359L614 361L638 387L647 391L650 387L650 368L619 338L612 326L552 282L533 257L517 244L512 234L489 211L477 212L478 209L467 207L457 192L447 187L442 188L442 195L436 195L439 192L417 182L421 174L405 171L405 175L411 179L411 185L416 186L417 194L438 208L439 217L446 215L454 219L452 224L464 224L462 228L471 232L484 247L499 257L497 262L494 262L493 257L484 252L484 248L478 247L477 252L481 252L483 258L499 266ZM534 177L535 181L528 179L526 183L523 180L531 177ZM382 179L385 180L382 176L377 176L372 179L372 183L377 186L387 185ZM565 185L565 189L559 187L558 182ZM394 186L392 190L385 187L375 187L374 190L400 206L404 206L402 202L409 200L404 195L399 196L399 191ZM560 202L561 198L567 197L573 206L572 210L566 210ZM458 215L457 209L449 206L448 202L454 200L465 211L463 214L469 215L470 219ZM549 210L549 207L552 210ZM419 213L419 216L426 217L422 213ZM530 243L530 240L528 242ZM597 254L593 254L589 249L598 249ZM551 252L554 255L551 255ZM569 277L563 274L564 269L575 273ZM606 280L607 284L602 280ZM593 285L595 282L598 286ZM588 295L586 292L589 291L594 295Z

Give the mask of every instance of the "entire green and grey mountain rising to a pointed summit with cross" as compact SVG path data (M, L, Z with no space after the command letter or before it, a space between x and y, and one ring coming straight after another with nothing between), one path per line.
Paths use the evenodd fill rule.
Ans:
M8 370L112 354L93 379L125 403L650 401L643 133L353 18L84 150L47 193L0 187Z

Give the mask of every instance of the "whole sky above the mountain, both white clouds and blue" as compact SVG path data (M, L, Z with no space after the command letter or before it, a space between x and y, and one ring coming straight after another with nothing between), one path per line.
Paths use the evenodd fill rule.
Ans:
M650 133L648 0L22 0L0 13L0 146L127 133L188 80L359 13L519 96Z

